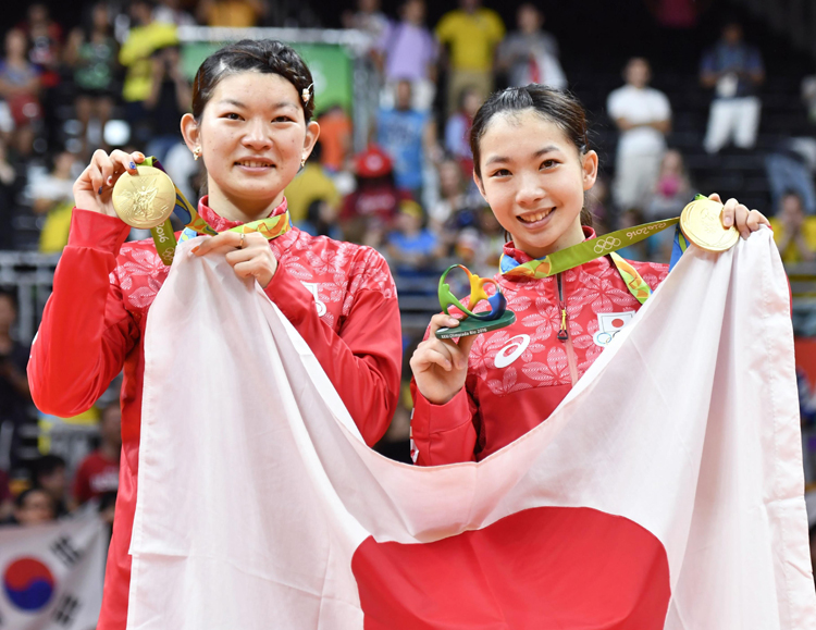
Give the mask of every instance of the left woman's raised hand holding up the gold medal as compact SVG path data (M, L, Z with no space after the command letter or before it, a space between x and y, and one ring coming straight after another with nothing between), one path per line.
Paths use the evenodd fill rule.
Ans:
M102 149L97 149L90 164L74 182L74 205L82 210L116 217L113 185L125 172L136 175L136 164L144 161L145 156L138 151L125 153L116 149L109 156Z

